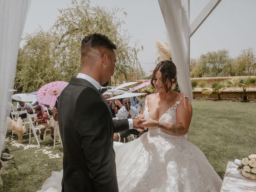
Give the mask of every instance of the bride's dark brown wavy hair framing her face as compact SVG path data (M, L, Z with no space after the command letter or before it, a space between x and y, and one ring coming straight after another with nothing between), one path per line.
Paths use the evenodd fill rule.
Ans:
M164 87L164 90L166 90L166 93L167 93L172 88L173 84L177 82L177 68L175 64L169 60L161 61L160 63L158 63L156 68L153 71L151 82L150 82L154 88L155 86L153 81L155 78L156 71L158 70L161 72L162 85ZM173 82L172 82L172 79L174 79ZM168 88L167 86L167 83L166 83L167 81L171 83L170 88Z

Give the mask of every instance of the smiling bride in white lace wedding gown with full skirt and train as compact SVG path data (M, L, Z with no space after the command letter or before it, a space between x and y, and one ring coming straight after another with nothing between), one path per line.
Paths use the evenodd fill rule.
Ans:
M138 115L148 132L126 144L114 142L120 192L219 192L222 180L204 153L187 140L192 106L172 91L176 67L160 62L152 75L156 94ZM62 172L52 172L41 192L60 192Z

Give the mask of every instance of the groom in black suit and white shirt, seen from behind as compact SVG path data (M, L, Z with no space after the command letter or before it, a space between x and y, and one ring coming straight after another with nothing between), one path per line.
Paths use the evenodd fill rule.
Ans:
M82 40L82 70L60 94L62 192L118 192L113 132L142 128L140 120L112 120L100 85L114 73L116 46L102 34Z

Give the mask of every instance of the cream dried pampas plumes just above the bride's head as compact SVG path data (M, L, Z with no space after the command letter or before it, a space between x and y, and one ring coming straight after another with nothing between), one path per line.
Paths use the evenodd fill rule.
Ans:
M162 42L156 40L156 48L157 48L157 52L156 52L157 64L161 61L172 60L170 46L167 43L163 44Z

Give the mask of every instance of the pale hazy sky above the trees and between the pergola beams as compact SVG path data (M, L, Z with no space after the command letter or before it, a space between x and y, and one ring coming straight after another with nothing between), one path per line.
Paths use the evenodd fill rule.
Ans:
M166 41L165 24L157 0L91 0L92 6L124 8L127 16L119 15L132 36L144 47L138 54L145 72L154 68L155 41ZM208 0L190 0L190 22ZM58 8L66 8L70 0L32 0L24 33L32 33L41 26L48 30L58 16ZM208 51L228 49L236 57L241 50L256 52L256 0L222 0L212 14L190 38L190 58L198 58ZM21 44L22 45L22 44Z

